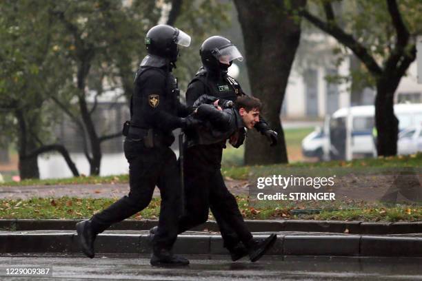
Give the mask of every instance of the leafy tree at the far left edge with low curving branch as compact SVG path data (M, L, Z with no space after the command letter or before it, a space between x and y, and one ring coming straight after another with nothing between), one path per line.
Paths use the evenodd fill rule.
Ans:
M57 110L48 98L65 73L49 52L54 30L50 8L37 1L6 1L0 6L0 128L3 136L17 142L21 178L38 178L37 156L52 151L61 153L78 175L66 148L54 143L50 134Z

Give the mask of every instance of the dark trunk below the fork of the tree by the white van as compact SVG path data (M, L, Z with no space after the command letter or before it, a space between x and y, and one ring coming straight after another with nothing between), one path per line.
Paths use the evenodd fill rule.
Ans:
M384 78L376 82L376 150L379 156L394 156L397 154L399 120L394 115L394 92L399 85L399 81L399 79Z

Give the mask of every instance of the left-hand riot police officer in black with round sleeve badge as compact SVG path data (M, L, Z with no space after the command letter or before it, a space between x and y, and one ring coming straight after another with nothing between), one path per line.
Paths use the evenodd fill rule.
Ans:
M181 210L181 189L177 159L170 149L172 130L193 124L190 111L179 103L177 81L172 75L179 45L190 45L185 32L170 25L157 25L145 37L145 56L134 80L130 101L130 125L123 129L125 157L129 163L130 192L90 220L79 222L77 232L83 252L94 257L94 239L110 225L148 206L155 185L161 193L159 231L152 241L152 265L188 264L172 254Z

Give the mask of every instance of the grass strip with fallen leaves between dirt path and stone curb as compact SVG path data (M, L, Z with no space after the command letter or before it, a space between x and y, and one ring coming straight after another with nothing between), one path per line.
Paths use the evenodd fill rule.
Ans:
M0 200L1 219L81 219L110 206L117 198L32 198L30 200ZM418 221L422 220L422 208L418 205L394 205L381 203L336 202L281 202L254 206L246 196L237 196L241 214L249 220L304 219L304 220L363 220L363 221ZM253 207L252 207L253 206ZM157 219L159 198L132 216L132 219ZM323 209L320 214L295 215L293 209ZM212 215L210 215L212 218Z

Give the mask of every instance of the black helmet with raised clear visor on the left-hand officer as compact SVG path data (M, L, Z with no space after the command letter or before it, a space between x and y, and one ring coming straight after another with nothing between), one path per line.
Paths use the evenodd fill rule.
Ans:
M177 55L179 54L177 45L188 47L190 45L190 36L170 25L155 25L148 30L145 37L145 47L148 54L162 56L172 62L177 61Z

